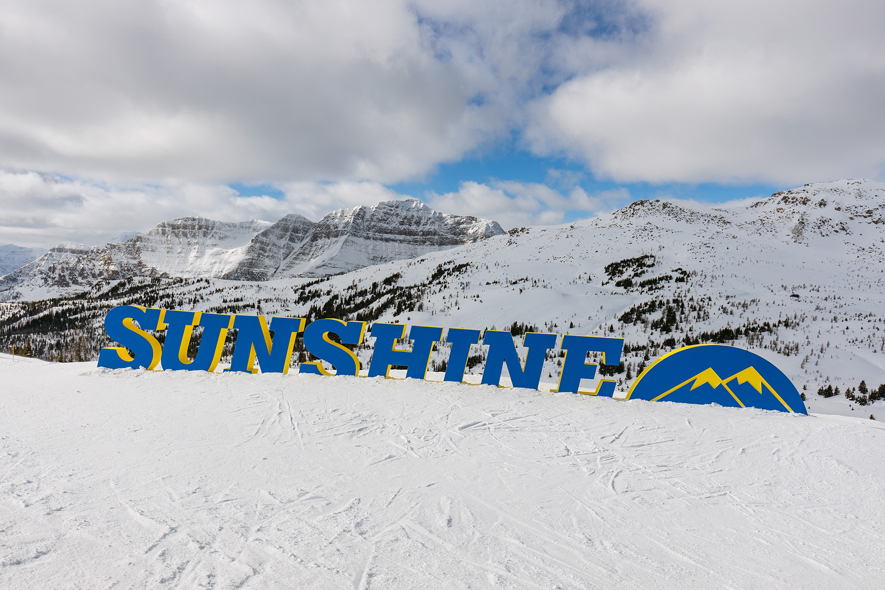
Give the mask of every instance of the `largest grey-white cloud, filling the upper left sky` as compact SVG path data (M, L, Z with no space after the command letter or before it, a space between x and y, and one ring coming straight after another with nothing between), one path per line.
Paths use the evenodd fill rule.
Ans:
M563 14L553 0L7 0L0 166L419 177L519 119Z

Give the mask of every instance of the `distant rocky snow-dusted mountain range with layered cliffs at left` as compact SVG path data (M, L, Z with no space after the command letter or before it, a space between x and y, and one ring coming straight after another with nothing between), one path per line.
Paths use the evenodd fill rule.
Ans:
M0 278L0 299L72 295L100 280L135 276L321 277L503 233L496 221L446 215L417 199L332 211L316 223L300 215L276 223L177 218L100 248L66 243L35 252L36 259L21 255Z

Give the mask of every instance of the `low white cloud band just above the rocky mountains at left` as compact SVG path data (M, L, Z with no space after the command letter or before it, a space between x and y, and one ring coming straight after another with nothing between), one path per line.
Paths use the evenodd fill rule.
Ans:
M281 199L242 196L224 185L113 186L35 172L0 172L0 243L49 248L62 241L103 244L124 231L200 215L221 221L276 221L299 213L314 221L328 211L404 198L375 182L298 183Z

